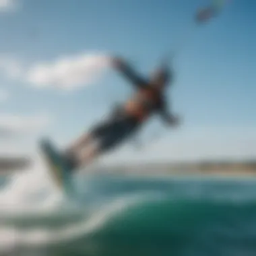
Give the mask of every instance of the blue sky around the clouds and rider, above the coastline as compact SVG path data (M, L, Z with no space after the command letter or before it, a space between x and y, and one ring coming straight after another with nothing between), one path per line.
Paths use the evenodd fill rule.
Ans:
M163 53L175 50L193 29L195 9L209 2L17 0L14 10L0 13L0 56L25 73L15 79L6 75L5 67L1 70L1 90L9 94L0 103L1 113L49 115L53 122L43 131L66 145L100 120L111 104L124 100L131 93L129 84L110 71L72 92L56 90L52 84L39 89L23 79L24 70L99 51L126 57L147 75ZM167 131L156 119L141 135L146 140L163 133L155 143L146 144L143 151L126 146L110 159L256 155L255 11L254 1L233 0L217 18L186 38L173 63L174 87L168 91L183 127Z

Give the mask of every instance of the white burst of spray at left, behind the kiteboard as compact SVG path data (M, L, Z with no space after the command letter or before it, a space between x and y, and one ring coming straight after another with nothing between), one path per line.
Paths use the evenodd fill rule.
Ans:
M40 156L34 163L28 170L13 174L0 190L1 213L40 211L61 204L63 197L53 186Z

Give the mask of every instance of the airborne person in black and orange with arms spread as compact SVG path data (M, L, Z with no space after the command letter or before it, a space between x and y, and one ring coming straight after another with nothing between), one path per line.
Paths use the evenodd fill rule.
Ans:
M123 59L113 57L111 63L135 87L135 94L121 106L113 108L105 121L92 127L65 150L70 170L89 164L100 154L119 146L155 113L171 127L179 124L178 117L167 110L165 89L172 84L173 73L166 65L156 69L147 81Z

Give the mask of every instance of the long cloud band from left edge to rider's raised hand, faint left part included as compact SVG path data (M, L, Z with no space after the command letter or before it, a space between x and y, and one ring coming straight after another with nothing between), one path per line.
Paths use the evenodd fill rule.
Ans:
M34 63L26 67L20 60L2 55L0 71L9 79L36 88L72 90L88 86L100 79L103 71L110 67L109 60L106 55L90 53L59 57L55 61Z

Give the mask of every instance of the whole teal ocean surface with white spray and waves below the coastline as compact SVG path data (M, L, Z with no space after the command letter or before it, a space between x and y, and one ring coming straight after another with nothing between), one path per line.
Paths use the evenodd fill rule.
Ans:
M157 170L156 170L157 172ZM87 174L0 180L0 255L255 256L256 179Z

